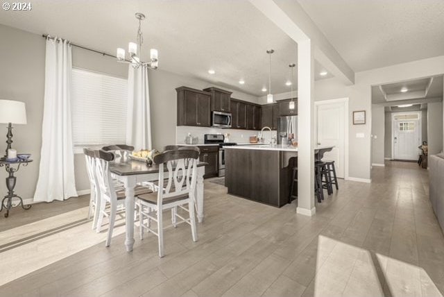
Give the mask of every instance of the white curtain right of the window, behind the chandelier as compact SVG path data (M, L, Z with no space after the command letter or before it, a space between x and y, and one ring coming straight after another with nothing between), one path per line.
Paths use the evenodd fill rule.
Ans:
M151 150L151 114L148 69L132 65L128 68L128 117L126 144L135 150Z

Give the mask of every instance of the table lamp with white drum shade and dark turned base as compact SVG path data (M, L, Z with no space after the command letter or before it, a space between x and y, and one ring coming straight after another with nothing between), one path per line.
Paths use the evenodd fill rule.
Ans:
M8 124L8 134L6 137L8 140L6 143L6 155L2 159L6 159L8 156L8 149L12 144L12 124L26 124L26 108L25 103L12 100L0 100L0 123Z

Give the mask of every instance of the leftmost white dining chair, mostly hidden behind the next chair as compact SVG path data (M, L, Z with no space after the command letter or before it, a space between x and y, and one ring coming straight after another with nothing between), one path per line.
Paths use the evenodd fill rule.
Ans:
M96 178L96 154L89 148L83 148L83 153L85 154L86 161L86 170L89 179L89 188L90 188L90 196L89 196L89 210L88 210L88 219L93 217L92 221L92 230L96 229L97 219L99 218L99 187L97 185ZM97 213L96 213L97 212Z

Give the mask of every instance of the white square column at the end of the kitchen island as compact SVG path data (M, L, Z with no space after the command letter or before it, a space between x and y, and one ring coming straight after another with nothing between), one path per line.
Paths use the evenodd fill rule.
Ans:
M314 49L298 41L298 214L312 216L314 205Z

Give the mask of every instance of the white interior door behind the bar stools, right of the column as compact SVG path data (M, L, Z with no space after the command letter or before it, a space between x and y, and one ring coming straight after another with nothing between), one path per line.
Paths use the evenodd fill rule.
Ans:
M316 135L318 146L334 146L323 160L334 161L336 176L344 178L345 102L316 104Z

